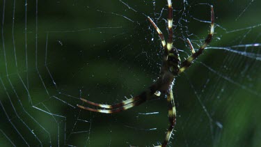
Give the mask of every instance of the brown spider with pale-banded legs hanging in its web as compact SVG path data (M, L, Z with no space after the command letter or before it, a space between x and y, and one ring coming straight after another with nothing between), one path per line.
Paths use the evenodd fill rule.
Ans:
M83 102L87 102L89 105L93 105L95 107L100 107L102 109L93 109L90 107L84 107L81 105L77 105L77 107L81 109L86 109L89 111L96 111L104 114L114 114L120 111L124 111L126 109L130 109L134 106L141 105L143 102L152 99L153 95L159 96L160 93L164 93L166 95L166 100L168 102L168 119L170 125L166 132L166 136L164 141L160 146L167 146L168 141L171 138L171 134L173 133L173 128L176 123L176 109L175 103L173 98L173 85L175 81L175 77L180 75L180 73L184 72L189 66L193 63L193 61L203 53L205 47L212 41L214 35L214 9L213 6L211 7L211 28L210 32L205 39L205 42L201 47L198 49L197 52L193 49L191 42L187 39L189 43L189 47L191 49L191 56L189 56L185 61L181 63L180 55L177 51L177 48L173 47L173 8L171 0L168 0L168 42L166 43L164 39L164 35L161 33L155 22L152 21L150 17L148 20L157 30L159 34L159 38L161 40L162 47L164 48L164 56L163 56L163 63L161 65L161 70L158 79L155 83L153 83L147 90L143 91L141 94L130 98L128 100L119 102L118 104L114 105L102 105L97 104L95 102L90 102L84 98L81 98Z

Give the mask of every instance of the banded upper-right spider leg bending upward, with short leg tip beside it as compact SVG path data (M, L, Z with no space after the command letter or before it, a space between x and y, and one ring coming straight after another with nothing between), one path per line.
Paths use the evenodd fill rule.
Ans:
M198 58L198 56L200 56L200 54L203 53L203 50L205 49L205 47L207 47L207 45L209 44L209 42L212 41L214 35L214 8L213 6L211 6L211 28L210 28L210 32L207 36L207 38L205 39L204 44L198 49L198 52L194 52L193 53L193 47L191 45L191 43L189 43L189 45L192 47L191 48L191 56L189 56L185 61L183 61L180 65L180 70L178 71L178 74L180 74L181 72L184 72L184 70L186 70L187 68L189 68L189 66L191 65L191 63Z

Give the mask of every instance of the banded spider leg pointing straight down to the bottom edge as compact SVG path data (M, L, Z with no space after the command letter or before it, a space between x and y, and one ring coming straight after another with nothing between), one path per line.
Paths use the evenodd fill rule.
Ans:
M172 90L169 91L167 95L167 101L168 101L168 121L170 122L170 125L168 127L168 131L166 132L166 137L164 139L164 142L161 144L162 147L167 146L169 139L171 139L171 134L174 130L174 126L176 124L176 108L175 108L175 102L174 102Z

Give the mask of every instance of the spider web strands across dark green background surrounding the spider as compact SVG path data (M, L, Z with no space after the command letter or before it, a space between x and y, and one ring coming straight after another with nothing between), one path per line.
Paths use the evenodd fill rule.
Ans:
M113 104L159 75L166 1L6 1L1 7L1 146L156 146L168 127L164 96L119 114ZM174 1L173 45L184 60L209 31L211 44L173 88L170 146L258 146L261 137L260 1Z

